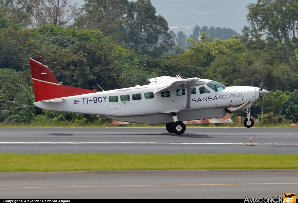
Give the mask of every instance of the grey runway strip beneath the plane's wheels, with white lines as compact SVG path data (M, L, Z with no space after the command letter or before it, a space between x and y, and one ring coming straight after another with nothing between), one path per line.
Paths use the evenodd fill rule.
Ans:
M249 147L252 137L254 147ZM297 128L0 128L0 153L297 154Z

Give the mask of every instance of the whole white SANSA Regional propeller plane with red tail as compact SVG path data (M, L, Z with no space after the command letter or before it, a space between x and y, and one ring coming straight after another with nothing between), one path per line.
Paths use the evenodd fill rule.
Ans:
M178 135L185 131L182 121L223 117L239 109L246 109L244 125L250 128L254 120L249 108L259 97L262 103L262 96L268 94L262 80L260 88L225 87L213 80L180 76L156 77L148 85L99 92L60 85L41 57L29 60L35 106L132 123L167 123L167 131Z

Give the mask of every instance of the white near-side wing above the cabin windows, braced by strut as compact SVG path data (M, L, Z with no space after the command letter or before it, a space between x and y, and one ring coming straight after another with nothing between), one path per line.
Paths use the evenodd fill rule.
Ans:
M199 80L200 78L186 78L182 80L177 80L167 86L157 89L155 93L171 89L191 88L192 86L199 85Z

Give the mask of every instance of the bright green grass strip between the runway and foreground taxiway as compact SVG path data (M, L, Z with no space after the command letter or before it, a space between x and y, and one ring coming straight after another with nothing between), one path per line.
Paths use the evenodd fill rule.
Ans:
M0 171L298 169L298 154L0 154Z

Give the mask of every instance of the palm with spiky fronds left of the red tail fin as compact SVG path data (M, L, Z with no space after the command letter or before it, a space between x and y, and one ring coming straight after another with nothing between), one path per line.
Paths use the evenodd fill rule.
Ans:
M1 114L4 116L4 122L31 122L38 114L43 114L42 110L37 108L35 102L34 91L28 84L22 82L14 87L16 91L9 91L8 93L15 96L13 101L8 101L10 110L2 110Z

